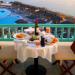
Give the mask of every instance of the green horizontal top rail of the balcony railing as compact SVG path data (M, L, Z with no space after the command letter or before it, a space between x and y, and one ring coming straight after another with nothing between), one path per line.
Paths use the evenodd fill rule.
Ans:
M75 24L38 24L39 27L75 27ZM35 24L0 24L0 27L34 27Z

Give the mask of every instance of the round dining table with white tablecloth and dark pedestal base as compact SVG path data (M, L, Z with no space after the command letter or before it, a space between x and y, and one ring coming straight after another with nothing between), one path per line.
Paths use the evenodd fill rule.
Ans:
M17 34L20 33L16 33L16 35ZM47 59L50 63L52 62L52 56L58 52L58 39L51 33L46 34L46 32L40 32L39 37L43 35L46 41L48 40L48 44L41 46L41 44L35 42L37 40L30 41L30 37L33 34L23 34L26 34L25 38L23 39L17 38L16 35L14 38L15 50L17 51L17 59L23 63L28 58L34 58L34 64L29 65L25 70L26 75L46 75L46 68L42 65L39 65L38 60L39 57L42 57L43 59ZM57 41L53 41L54 39Z

